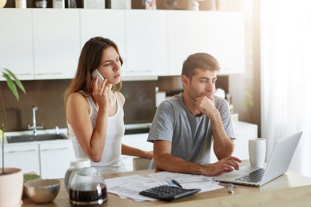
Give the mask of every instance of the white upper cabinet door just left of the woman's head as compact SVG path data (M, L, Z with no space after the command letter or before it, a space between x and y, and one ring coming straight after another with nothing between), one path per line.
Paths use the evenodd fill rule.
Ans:
M79 10L32 11L34 79L73 78L80 54Z

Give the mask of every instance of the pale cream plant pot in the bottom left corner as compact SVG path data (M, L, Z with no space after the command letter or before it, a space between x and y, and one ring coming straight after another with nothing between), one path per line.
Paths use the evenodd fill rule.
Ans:
M18 168L4 168L4 172L10 174L0 175L0 207L17 206L21 203L23 173Z

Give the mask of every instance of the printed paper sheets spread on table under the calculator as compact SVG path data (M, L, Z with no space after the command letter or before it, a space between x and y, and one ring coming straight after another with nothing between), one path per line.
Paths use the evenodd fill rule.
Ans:
M215 182L214 178L206 177L204 175L163 171L148 176L149 177L133 175L117 177L106 179L105 182L109 193L116 194L122 199L130 198L136 202L156 201L156 199L140 195L139 192L156 186L174 185L171 181L172 179L177 181L185 189L200 188L201 191L199 193L224 188L223 186L218 185L218 182Z

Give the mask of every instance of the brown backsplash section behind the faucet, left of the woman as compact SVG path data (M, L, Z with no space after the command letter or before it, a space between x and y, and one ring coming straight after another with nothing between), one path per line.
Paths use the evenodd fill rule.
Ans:
M6 131L26 131L32 125L32 106L37 106L36 124L44 123L45 129L58 126L65 128L65 109L63 93L69 84L68 79L62 80L24 80L26 94L19 92L19 101L11 94L6 82L0 81L0 88L7 116ZM0 111L3 123L3 112Z

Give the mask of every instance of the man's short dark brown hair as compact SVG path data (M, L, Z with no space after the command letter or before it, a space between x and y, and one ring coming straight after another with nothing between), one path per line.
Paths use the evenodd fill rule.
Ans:
M219 72L220 66L213 56L207 53L195 53L188 56L187 60L184 61L181 75L186 75L191 80L192 76L195 75L195 69Z

